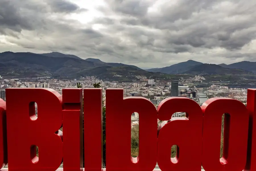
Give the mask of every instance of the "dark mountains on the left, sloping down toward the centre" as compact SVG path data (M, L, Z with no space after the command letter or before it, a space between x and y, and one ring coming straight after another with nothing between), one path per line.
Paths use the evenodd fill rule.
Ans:
M75 55L59 52L46 54L3 52L0 53L0 75L5 78L52 76L69 79L98 76L106 80L130 81L136 79L136 75L158 78L163 74L148 72L133 65L108 63L94 58L84 60Z

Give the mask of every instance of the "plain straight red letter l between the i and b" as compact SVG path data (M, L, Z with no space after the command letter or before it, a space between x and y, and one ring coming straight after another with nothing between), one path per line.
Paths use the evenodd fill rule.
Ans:
M84 170L101 171L102 156L102 88L86 88L84 89Z

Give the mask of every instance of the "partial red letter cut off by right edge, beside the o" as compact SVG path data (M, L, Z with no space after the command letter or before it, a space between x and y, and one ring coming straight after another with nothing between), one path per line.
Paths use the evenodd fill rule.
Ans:
M256 89L247 90L247 109L249 111L249 133L247 162L245 170L256 171Z

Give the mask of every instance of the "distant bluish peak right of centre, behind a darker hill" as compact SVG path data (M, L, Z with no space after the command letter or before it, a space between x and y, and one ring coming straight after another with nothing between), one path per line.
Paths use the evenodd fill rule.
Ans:
M166 74L179 74L183 73L189 69L191 69L193 66L203 64L202 62L197 62L194 60L188 60L186 62L180 62L178 64L174 64L171 66L167 66L164 68L152 68L148 69L146 71L150 72L161 72L161 73L166 73Z

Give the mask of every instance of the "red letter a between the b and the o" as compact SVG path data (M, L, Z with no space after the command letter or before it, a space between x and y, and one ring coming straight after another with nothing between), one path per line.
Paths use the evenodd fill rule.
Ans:
M157 110L159 120L171 119L158 129L159 168L162 171L201 170L203 113L200 106L186 97L169 97ZM175 112L186 112L186 117L171 118ZM171 158L173 145L179 147L175 158Z

